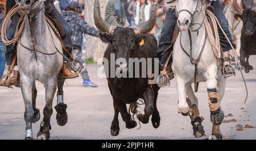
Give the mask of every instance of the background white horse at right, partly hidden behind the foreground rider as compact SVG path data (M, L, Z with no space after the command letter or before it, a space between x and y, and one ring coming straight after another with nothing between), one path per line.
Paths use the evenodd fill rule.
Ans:
M238 58L240 58L241 48L241 32L243 28L243 21L241 18L242 14L242 1L241 0L230 0L228 5L224 9L224 13L229 22L229 31L232 35L234 43L236 43L236 52ZM236 61L236 64L238 62Z

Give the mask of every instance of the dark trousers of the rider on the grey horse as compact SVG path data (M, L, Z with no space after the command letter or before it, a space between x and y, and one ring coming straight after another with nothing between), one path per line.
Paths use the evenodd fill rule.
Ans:
M53 5L53 3L51 3L51 5ZM51 16L51 18L55 19L57 22L59 22L64 27L65 35L61 38L64 42L65 48L68 50L68 52L70 54L72 54L72 39L71 39L72 30L69 27L69 24L66 22L63 15L60 14L60 12L56 9L56 7L54 5L53 5L52 11L49 12L48 15ZM19 22L19 18L20 18L20 15L18 13L16 13L16 14L14 14L13 18L11 19L10 26L7 30L7 39L14 38L14 34L15 34L17 24ZM13 62L15 53L16 53L16 44L6 46L6 53L5 53L6 65L11 65L11 62ZM64 61L67 61L67 60L65 60L65 58L64 58Z

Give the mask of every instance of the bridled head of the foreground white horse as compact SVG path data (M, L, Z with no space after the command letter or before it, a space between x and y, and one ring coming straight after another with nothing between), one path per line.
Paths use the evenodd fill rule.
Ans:
M179 12L177 24L181 31L189 30L193 15L197 12L200 0L177 0L176 8Z

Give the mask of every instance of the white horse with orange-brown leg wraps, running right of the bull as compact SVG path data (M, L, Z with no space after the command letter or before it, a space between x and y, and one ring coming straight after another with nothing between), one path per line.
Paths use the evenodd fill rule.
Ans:
M182 115L190 116L193 135L201 137L204 135L204 129L201 125L203 118L199 116L198 101L192 89L192 83L195 80L195 65L191 62L193 62L192 58L198 58L200 52L203 52L197 64L196 82L207 82L210 119L213 122L211 137L222 139L220 124L224 119L224 112L220 108L220 103L224 96L226 79L221 74L220 61L216 62L209 40L205 38L206 30L202 24L204 16L201 14L201 7L204 6L204 2L201 0L179 0L176 2L177 24L180 31L174 45L172 69L176 77L179 95L178 110ZM198 32L193 31L196 29ZM189 39L189 32L191 32L191 39ZM186 98L186 94L188 98Z

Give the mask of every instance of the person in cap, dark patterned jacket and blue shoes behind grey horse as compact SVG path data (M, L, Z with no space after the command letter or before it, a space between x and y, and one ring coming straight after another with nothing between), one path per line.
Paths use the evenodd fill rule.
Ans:
M97 87L95 83L90 81L88 71L86 69L85 58L82 57L82 39L84 34L98 37L100 32L94 27L90 27L83 18L79 16L79 2L72 1L68 4L66 9L63 11L65 20L69 23L72 29L72 41L73 41L73 58L77 61L83 62L84 68L80 72L82 79L84 80L83 86ZM74 65L76 67L76 65Z

